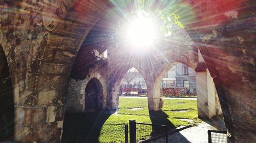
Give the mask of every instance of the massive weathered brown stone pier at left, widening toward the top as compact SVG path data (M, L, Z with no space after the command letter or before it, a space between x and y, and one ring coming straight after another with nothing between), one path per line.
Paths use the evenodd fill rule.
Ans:
M1 1L0 4L0 43L14 88L14 139L60 142L75 56L80 42L108 4L101 1Z

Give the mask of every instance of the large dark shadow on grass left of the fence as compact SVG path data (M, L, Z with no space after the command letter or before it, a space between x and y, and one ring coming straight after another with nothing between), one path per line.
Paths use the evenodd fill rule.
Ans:
M62 143L99 142L100 130L110 115L108 112L66 113Z

